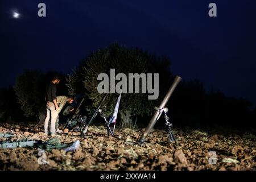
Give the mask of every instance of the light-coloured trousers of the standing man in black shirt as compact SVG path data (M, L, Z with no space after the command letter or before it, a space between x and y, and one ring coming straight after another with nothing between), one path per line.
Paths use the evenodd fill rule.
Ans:
M58 111L55 110L53 102L47 102L46 105L46 120L44 121L44 133L48 134L49 121L51 122L51 134L55 134L55 123L57 119Z

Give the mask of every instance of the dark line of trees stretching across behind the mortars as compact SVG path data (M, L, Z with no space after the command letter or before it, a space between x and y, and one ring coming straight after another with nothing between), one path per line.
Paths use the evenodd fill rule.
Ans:
M59 73L61 84L57 85L57 95L84 94L83 107L92 113L101 100L97 92L100 73L108 73L115 68L116 73L159 73L159 98L148 100L148 95L122 94L119 120L122 127L147 125L174 80L171 60L167 56L155 56L139 48L127 48L118 44L98 49L90 53L69 75ZM1 121L42 121L46 101L44 92L47 82L56 72L24 71L16 78L13 88L0 89ZM182 75L181 75L182 77ZM112 114L118 94L109 94L102 105L107 117ZM182 81L168 102L170 118L179 127L234 127L255 128L256 108L250 110L251 103L242 98L227 97L218 90L206 92L199 80ZM161 119L163 120L163 119ZM164 121L158 122L159 126Z

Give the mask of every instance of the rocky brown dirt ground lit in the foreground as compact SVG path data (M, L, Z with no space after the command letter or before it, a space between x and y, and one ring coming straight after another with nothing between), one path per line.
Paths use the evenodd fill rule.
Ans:
M51 139L34 124L0 124L0 133L10 130L15 134L11 140ZM138 144L142 132L116 130L115 137L108 137L104 126L91 126L86 138L74 132L60 134L61 142L79 139L79 150L46 152L49 164L38 163L35 147L0 149L0 170L256 170L254 134L176 129L176 145L169 142L166 131L153 130L144 144Z

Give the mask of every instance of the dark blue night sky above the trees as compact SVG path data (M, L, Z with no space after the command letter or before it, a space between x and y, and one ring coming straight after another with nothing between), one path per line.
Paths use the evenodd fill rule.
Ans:
M46 18L38 17L40 2ZM0 10L0 86L13 85L24 69L70 73L91 51L118 42L168 55L185 80L256 104L255 0L1 0Z

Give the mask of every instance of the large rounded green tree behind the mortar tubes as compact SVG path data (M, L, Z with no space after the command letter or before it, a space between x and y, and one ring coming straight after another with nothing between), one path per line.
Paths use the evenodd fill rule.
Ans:
M127 48L112 44L109 47L99 49L82 61L72 75L68 75L68 89L70 94L79 92L85 93L96 107L102 95L97 92L100 81L97 77L100 73L106 73L110 77L110 69L115 69L118 73L159 73L160 94L171 85L170 60L167 57L156 57L138 48ZM117 83L118 81L116 81ZM162 89L164 88L164 89ZM160 95L159 95L160 96ZM102 105L102 109L109 117L114 109L118 94L109 94ZM158 101L158 100L157 100ZM137 115L150 115L154 111L156 100L148 100L148 94L122 94L119 111L122 122L132 122L132 118ZM86 106L91 110L91 106Z

